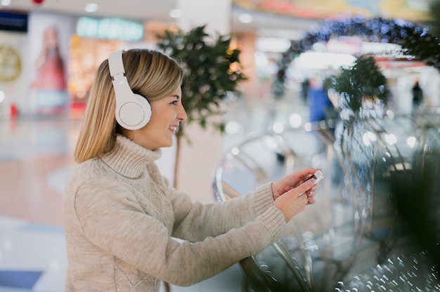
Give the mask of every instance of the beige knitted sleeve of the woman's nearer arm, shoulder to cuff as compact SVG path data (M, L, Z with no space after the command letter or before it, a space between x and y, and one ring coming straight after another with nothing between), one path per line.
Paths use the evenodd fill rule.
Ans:
M72 215L93 246L137 270L178 286L198 283L242 258L259 253L281 237L286 225L283 213L271 206L261 210L260 215L254 211L252 215L257 215L254 220L219 236L194 243L176 241L165 225L142 210L127 186L114 180L89 180L79 187L74 197ZM250 201L254 204L252 199ZM89 265L99 265L101 259L93 258L99 256L88 253L84 259Z

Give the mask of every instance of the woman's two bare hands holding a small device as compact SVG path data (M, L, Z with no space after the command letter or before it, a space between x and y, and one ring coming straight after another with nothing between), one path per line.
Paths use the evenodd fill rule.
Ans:
M302 184L306 178L320 169L305 168L278 180L272 184L274 206L283 212L286 222L293 216L304 211L306 205L315 204L315 179L312 178ZM302 184L302 185L301 185ZM303 195L301 195L303 194Z

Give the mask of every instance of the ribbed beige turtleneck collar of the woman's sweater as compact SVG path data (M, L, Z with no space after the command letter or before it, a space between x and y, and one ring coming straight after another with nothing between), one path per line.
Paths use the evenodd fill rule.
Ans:
M112 151L103 154L101 159L114 171L128 178L138 178L150 162L160 159L162 150L148 150L124 137L117 135Z

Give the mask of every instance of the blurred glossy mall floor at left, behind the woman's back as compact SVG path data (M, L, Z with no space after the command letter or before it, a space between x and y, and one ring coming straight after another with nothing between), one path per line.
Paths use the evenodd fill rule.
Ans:
M60 204L77 122L0 124L0 291L63 291Z

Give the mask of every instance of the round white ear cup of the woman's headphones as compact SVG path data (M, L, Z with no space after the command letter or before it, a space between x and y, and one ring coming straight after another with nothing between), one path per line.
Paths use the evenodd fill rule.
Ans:
M142 95L132 93L125 102L117 105L116 121L128 130L138 130L143 128L151 117L150 102Z

